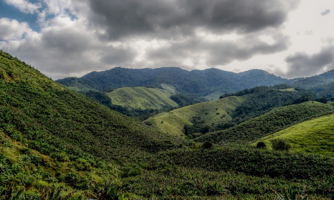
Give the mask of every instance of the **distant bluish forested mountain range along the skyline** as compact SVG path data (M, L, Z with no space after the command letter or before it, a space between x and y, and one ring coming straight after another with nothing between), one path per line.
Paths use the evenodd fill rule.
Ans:
M77 83L80 83L80 85L89 86L96 90L108 87L117 89L139 86L163 89L167 84L175 87L175 90L181 94L196 94L203 97L211 94L208 98L217 98L223 93L235 92L249 87L290 83L287 79L263 70L233 73L214 68L187 71L176 67L156 69L117 67L103 72L91 72L81 78L60 79L57 82L67 87L76 87ZM220 94L212 96L214 92Z

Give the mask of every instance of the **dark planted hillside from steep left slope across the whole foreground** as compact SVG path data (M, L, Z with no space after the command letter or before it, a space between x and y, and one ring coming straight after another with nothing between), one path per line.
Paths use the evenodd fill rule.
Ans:
M2 199L334 197L331 157L168 137L2 51L0 102Z

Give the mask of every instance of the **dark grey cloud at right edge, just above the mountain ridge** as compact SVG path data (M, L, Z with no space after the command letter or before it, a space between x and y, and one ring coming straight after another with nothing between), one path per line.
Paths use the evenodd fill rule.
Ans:
M334 69L334 45L323 47L320 52L309 55L298 52L285 58L287 73L285 77L306 77Z

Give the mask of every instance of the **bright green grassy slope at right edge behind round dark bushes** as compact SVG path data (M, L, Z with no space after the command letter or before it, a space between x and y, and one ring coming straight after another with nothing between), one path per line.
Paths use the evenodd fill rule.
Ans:
M333 122L333 114L304 121L268 135L264 138L265 143L271 148L270 139L283 138L291 143L292 151L334 156Z

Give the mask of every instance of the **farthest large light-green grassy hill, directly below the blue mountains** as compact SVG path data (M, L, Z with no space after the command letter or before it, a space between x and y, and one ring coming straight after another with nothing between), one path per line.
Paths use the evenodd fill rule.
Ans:
M170 99L172 94L158 88L119 88L107 93L111 102L123 107L135 109L160 109L177 107L178 104Z

